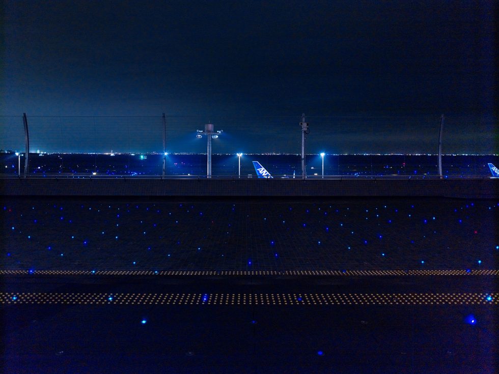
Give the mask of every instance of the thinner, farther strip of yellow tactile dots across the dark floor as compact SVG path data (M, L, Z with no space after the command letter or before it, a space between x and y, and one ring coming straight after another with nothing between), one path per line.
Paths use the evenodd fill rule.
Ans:
M0 275L499 275L499 270L286 270L286 271L150 271L150 270L0 270Z

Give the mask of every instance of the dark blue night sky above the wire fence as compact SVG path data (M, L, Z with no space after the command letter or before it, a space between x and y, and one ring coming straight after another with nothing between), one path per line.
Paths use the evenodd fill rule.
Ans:
M366 121L330 118L425 117L438 127L445 113L456 148L471 141L477 152L497 150L492 2L4 4L2 115L166 112L199 128L220 116L258 122L305 112L317 116L311 136L332 127L338 140L342 126L365 133ZM328 138L311 141L322 147Z

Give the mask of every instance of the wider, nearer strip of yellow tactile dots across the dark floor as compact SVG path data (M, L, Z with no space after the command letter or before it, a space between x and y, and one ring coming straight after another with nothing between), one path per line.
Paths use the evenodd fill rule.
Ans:
M497 305L495 294L0 293L2 304L85 305Z

